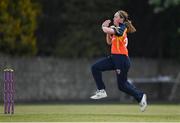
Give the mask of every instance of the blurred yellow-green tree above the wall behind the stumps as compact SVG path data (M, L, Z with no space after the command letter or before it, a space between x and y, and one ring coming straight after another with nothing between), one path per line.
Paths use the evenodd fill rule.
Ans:
M38 4L32 0L0 1L0 51L31 56L37 52L35 30Z

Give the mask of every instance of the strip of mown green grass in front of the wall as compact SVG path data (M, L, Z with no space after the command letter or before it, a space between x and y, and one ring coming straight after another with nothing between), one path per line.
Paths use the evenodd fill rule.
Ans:
M133 104L19 104L14 115L3 114L3 105L0 111L1 122L180 122L180 105L154 104L140 112Z

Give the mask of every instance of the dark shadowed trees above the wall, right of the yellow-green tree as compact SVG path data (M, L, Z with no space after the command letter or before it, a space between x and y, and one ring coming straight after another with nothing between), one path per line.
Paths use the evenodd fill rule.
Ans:
M109 47L105 43L101 23L107 18L112 19L119 9L129 13L137 28L135 34L128 35L130 56L176 58L174 53L179 52L178 6L170 4L155 14L155 1L150 0L39 1L42 14L37 30L38 55L94 58L108 54Z

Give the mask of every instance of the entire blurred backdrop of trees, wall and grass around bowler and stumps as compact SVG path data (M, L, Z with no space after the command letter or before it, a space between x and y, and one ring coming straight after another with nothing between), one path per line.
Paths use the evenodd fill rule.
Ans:
M91 66L110 54L101 25L121 9L137 29L128 79L147 94L146 112L118 90L114 71L103 73L108 98L89 99ZM0 0L0 122L180 122L179 15L180 0ZM13 115L3 109L6 68Z

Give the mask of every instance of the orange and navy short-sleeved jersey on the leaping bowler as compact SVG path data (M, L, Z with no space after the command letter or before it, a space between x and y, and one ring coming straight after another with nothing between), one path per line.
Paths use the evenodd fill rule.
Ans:
M127 27L120 24L119 27L113 27L115 34L112 36L111 54L123 54L128 56L128 38Z

